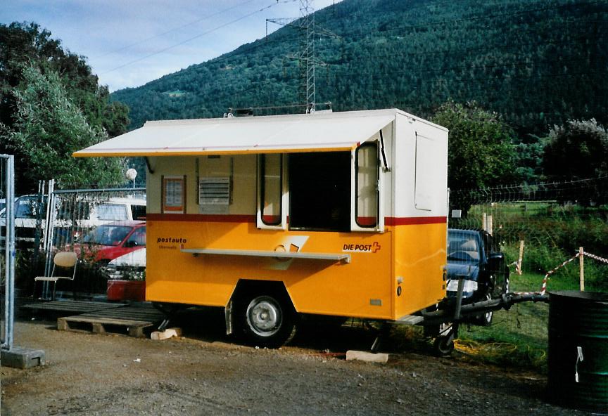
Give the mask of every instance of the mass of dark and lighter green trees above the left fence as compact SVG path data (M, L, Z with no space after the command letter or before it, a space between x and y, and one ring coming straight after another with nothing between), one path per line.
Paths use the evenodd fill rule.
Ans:
M124 133L127 115L125 104L110 103L108 87L98 85L84 57L64 51L61 41L51 39L51 32L35 23L0 24L0 152L15 155L18 193L32 192L39 179L55 174L62 175L63 186L118 178L118 162L74 162L71 152L82 143L87 146ZM61 126L63 122L68 125ZM37 134L44 141L34 138ZM34 142L26 143L30 138ZM34 143L42 146L38 152ZM57 157L65 160L53 160ZM60 162L65 163L64 168L58 167ZM70 171L73 168L83 171ZM90 178L84 173L87 169L91 169Z

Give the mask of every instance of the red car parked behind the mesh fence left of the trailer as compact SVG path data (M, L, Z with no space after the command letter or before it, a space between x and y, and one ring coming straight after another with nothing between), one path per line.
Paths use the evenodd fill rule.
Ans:
M74 251L92 261L110 260L146 247L146 221L115 221L91 230Z

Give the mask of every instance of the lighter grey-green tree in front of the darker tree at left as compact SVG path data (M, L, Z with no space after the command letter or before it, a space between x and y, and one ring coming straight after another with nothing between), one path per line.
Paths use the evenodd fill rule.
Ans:
M72 157L72 152L106 140L99 126L90 126L68 97L56 72L42 74L25 67L23 82L13 89L16 111L13 126L0 124L9 151L20 155L15 174L30 189L38 179L57 180L58 186L108 186L122 181L118 159ZM22 186L23 188L23 186Z

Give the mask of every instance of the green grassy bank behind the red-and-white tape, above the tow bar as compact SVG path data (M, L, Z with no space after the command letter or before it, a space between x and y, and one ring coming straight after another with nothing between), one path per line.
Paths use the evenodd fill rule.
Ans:
M571 259L579 247L585 252L608 258L607 207L579 207L548 202L477 204L467 219L452 220L451 227L476 228L482 213L493 216L494 238L512 263L519 257L519 240L524 239L523 270L541 277L534 287L540 290L542 276ZM513 270L513 269L512 269ZM572 290L578 287L578 259L551 276L550 290ZM608 292L608 264L585 257L585 287Z

